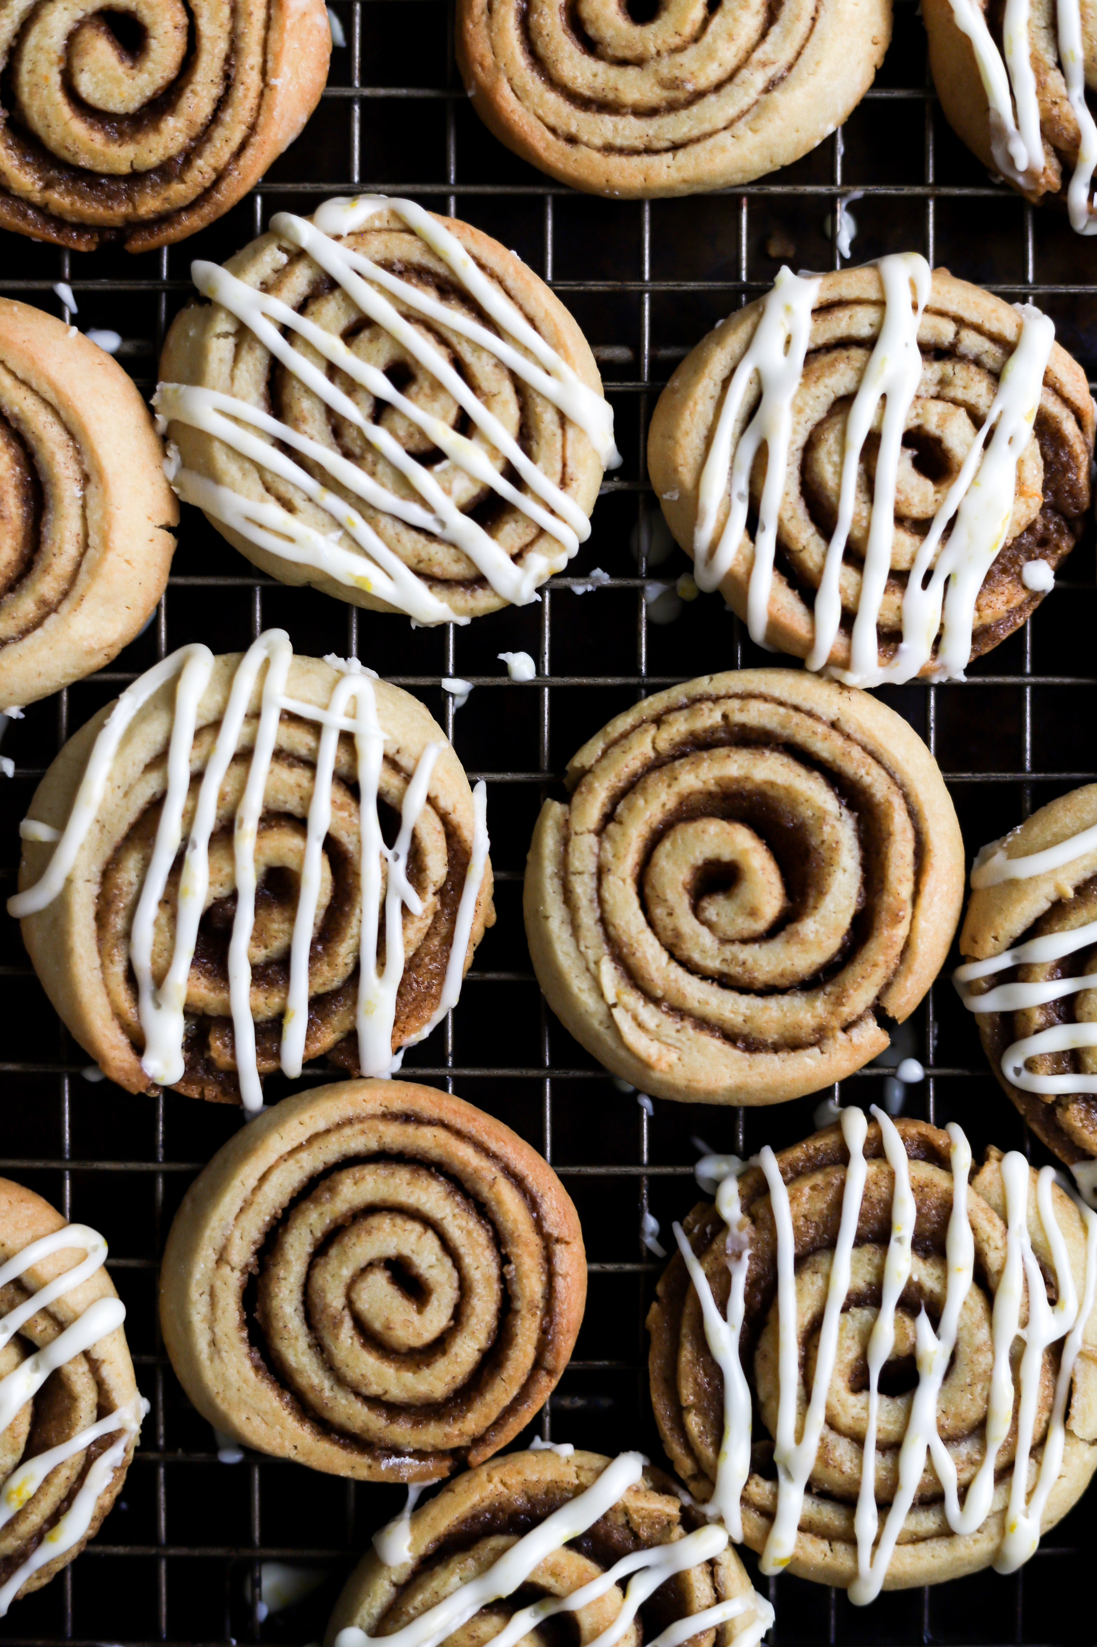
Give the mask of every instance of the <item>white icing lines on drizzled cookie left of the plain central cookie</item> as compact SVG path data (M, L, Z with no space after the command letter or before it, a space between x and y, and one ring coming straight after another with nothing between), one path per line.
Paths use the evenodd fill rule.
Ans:
M156 988L151 967L155 921L168 886L171 866L183 845L183 815L191 786L191 753L194 748L199 703L214 669L214 654L209 647L186 646L135 680L132 687L127 687L95 740L69 820L46 873L35 886L8 901L8 911L16 917L23 917L44 909L59 894L99 812L110 766L125 728L153 692L174 679L178 684L168 748L168 786L161 804L153 855L133 916L130 957L138 983L138 1016L145 1033L141 1069L150 1079L163 1085L173 1085L181 1080L186 1067L183 1052L186 990L197 945L199 922L206 907L206 893L209 889L209 842L217 820L217 800L229 766L240 744L248 702L260 669L266 665L255 746L248 761L247 782L234 825L237 909L229 944L229 998L240 1095L247 1113L258 1113L263 1107L263 1090L255 1052L255 1024L250 1006L252 967L248 962L248 944L255 924L255 847L258 824L283 710L317 721L321 726L304 863L301 868L301 889L289 947L289 987L280 1052L281 1069L291 1077L301 1074L304 1057L309 949L319 899L322 845L331 822L332 774L339 735L354 735L359 768L362 917L357 1038L359 1062L363 1075L388 1075L398 1067L391 1054L391 1029L396 1013L396 991L405 968L403 907L406 906L413 914L419 914L423 909L419 894L408 879L406 863L416 822L428 800L434 761L441 751L439 743L428 743L419 756L405 791L398 838L388 848L382 837L378 817L378 786L385 735L377 715L372 672L345 669L327 705L316 707L286 695L285 688L291 659L293 647L289 646L288 634L283 629L268 629L250 646L237 667L229 702L220 716L217 743L197 792L194 819L186 842L183 873L179 876L174 949L168 973L160 988ZM354 703L354 718L349 715L350 703ZM477 784L472 799L472 855L454 921L454 950L446 963L439 1006L431 1021L414 1036L414 1043L424 1039L441 1023L461 993L465 952L490 845L487 835L487 789L482 782ZM382 916L382 858L388 863L388 884L383 906L386 950L385 967L378 973L377 937Z

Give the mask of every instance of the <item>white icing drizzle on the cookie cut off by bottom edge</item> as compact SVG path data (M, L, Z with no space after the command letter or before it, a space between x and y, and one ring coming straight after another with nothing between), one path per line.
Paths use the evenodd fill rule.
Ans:
M622 1453L620 1458L607 1464L590 1487L569 1499L558 1510L553 1510L551 1515L546 1515L538 1527L518 1538L479 1578L457 1586L391 1635L373 1637L354 1624L347 1626L336 1635L336 1647L365 1647L367 1642L373 1640L385 1640L391 1647L441 1647L480 1607L511 1596L526 1583L546 1556L561 1550L571 1538L581 1537L607 1510L613 1509L622 1494L640 1481L643 1464L645 1459L640 1453ZM674 1543L633 1550L605 1573L599 1573L589 1584L582 1584L581 1589L572 1591L572 1594L544 1596L541 1601L521 1607L495 1635L493 1647L516 1647L544 1619L562 1612L577 1612L581 1607L597 1601L599 1596L604 1596L623 1578L628 1578L625 1599L617 1617L590 1642L590 1647L613 1647L625 1635L643 1603L660 1584L666 1583L674 1573L684 1573L701 1561L711 1561L727 1548L727 1542L725 1528L712 1525L686 1533L684 1538L678 1538ZM729 1619L742 1617L747 1611L753 1611L755 1616L748 1629L737 1635L737 1642L742 1647L758 1647L763 1634L773 1624L773 1609L755 1591L678 1619L655 1637L651 1647L683 1647L692 1635L724 1624Z

